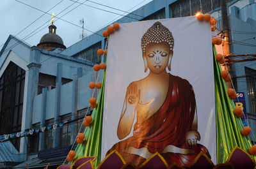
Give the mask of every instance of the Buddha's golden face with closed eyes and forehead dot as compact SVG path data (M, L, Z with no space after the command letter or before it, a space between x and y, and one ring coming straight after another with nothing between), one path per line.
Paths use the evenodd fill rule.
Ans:
M165 71L169 57L172 57L170 47L165 42L149 43L143 55L147 59L147 66L150 71L156 74Z

